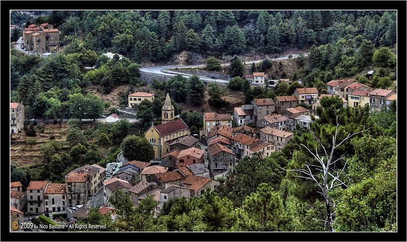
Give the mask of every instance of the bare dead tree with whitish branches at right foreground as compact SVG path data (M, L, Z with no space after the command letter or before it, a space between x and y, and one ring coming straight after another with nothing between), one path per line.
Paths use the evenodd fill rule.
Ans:
M355 136L356 134L362 133L362 132L366 132L368 131L370 128L368 129L364 129L361 130L359 132L356 133L349 133L345 139L343 139L341 142L339 142L339 144L337 144L337 135L338 135L338 127L339 127L339 123L338 123L338 115L335 113L336 116L336 128L335 128L335 134L332 137L332 149L330 154L328 155L327 150L325 149L325 146L321 143L320 139L318 139L318 137L315 135L314 132L310 131L310 133L312 134L312 136L314 137L314 139L318 142L319 146L322 147L322 150L324 151L324 154L322 154L322 156L320 156L318 154L318 148L315 148L315 152L312 152L308 147L306 147L305 145L301 144L303 147L305 147L305 149L308 150L308 152L318 161L318 165L305 165L306 169L284 169L281 168L283 170L286 171L296 171L296 172L301 172L302 174L304 174L303 176L294 176L294 177L299 177L299 178L304 178L306 180L312 180L316 183L316 185L318 185L318 187L321 189L321 191L318 191L318 193L321 193L321 195L324 197L325 200L325 205L327 208L327 220L326 222L329 224L330 230L333 231L333 219L332 219L332 212L331 212L331 203L329 201L329 196L328 196L328 192L331 191L332 189L334 189L335 187L338 186L346 186L345 181L341 181L341 179L339 179L341 174L345 174L344 173L344 169L346 166L346 162L343 165L343 168L338 172L336 171L336 175L333 174L334 170L332 169L331 165L335 164L337 161L342 160L344 154L334 160L334 152L335 149L338 148L339 146L341 146L345 141L351 139L351 137ZM318 174L313 174L313 171L311 170L310 166L312 168L314 168L315 170L317 170L319 173ZM335 206L335 204L333 203L333 205Z

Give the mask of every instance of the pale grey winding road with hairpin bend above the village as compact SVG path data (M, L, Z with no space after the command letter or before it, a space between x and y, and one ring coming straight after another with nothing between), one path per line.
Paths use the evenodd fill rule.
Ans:
M308 53L304 53L304 56L308 56ZM300 56L300 54L293 54L292 55L293 59L294 58L298 58ZM288 59L288 56L282 56L282 57L278 57L278 58L272 58L272 61L276 61L276 60L285 60ZM260 63L262 60L249 60L249 61L245 61L246 63ZM230 65L230 63L222 63L221 65L223 66L227 66ZM171 71L171 69L173 68L188 68L188 67L204 67L205 64L199 64L199 65L160 65L160 66L152 66L152 67L144 67L144 68L140 68L140 72L143 73L149 73L149 74L156 74L156 75L162 75L162 76L176 76L176 75L181 75L183 77L189 78L192 75L189 74L185 74L185 73L179 73L176 71ZM212 79L212 78L208 78L208 77L203 77L203 76L199 76L199 79L202 81L206 81L206 82L219 82L219 83L228 83L229 80L222 80L222 79Z

